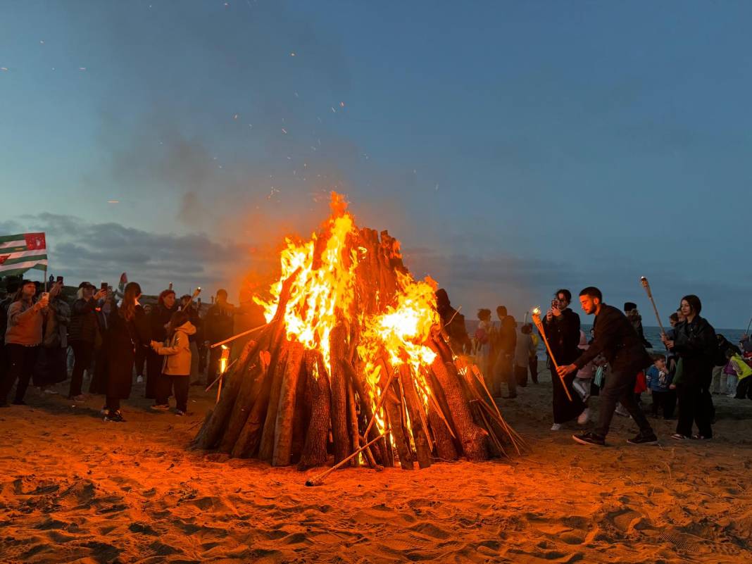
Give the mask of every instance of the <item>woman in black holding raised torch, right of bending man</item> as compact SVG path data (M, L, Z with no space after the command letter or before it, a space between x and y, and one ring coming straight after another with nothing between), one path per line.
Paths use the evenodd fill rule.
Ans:
M681 377L677 386L679 420L672 438L709 439L713 437L711 420L713 398L710 386L713 366L717 361L718 341L715 329L708 320L699 316L702 302L697 296L681 299L681 313L685 320L675 327L675 338L663 337L663 343L681 359ZM692 435L692 424L697 425L697 435Z

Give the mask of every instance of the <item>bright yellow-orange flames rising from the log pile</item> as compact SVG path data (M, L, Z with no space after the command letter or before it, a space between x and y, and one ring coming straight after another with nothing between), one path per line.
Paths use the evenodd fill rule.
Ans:
M427 405L430 387L421 368L435 359L426 341L432 326L440 323L436 284L430 278L417 281L410 274L397 272L396 296L386 310L356 314L356 268L367 251L354 244L358 229L344 198L332 193L331 208L332 217L323 223L322 235L314 233L309 241L300 243L287 239L287 247L280 255L280 278L270 289L271 299L253 299L263 306L266 320L270 321L277 311L283 281L298 271L284 317L287 338L320 351L329 366L332 329L341 322L357 323L357 352L371 403L375 404L381 395L379 384L383 386L382 378L386 378L384 361L390 369L408 366ZM399 242L390 240L390 245L390 256L399 257ZM383 430L383 421L377 422Z

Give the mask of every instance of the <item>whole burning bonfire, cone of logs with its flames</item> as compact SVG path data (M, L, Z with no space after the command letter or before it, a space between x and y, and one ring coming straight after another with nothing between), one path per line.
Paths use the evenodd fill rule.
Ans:
M399 241L359 229L336 193L331 208L309 241L287 240L279 279L255 298L267 323L194 446L302 470L329 455L411 470L520 453L478 367L448 344L435 281L415 280Z

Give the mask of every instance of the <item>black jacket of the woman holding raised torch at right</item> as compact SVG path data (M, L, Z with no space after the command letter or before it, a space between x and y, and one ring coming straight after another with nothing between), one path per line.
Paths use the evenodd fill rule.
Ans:
M673 350L681 358L681 383L710 386L713 380L713 365L718 356L715 329L708 320L699 315L692 323L678 323L675 329Z

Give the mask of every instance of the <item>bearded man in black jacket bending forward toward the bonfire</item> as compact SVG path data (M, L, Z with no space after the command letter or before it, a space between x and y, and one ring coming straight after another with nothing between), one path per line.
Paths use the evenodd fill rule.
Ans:
M601 408L598 425L592 432L572 435L572 438L581 444L604 445L616 404L620 402L640 428L639 434L627 442L656 444L658 439L635 401L637 374L650 365L650 356L632 323L629 323L626 316L617 308L605 305L602 299L603 296L598 288L587 287L581 291L580 303L583 311L588 315L596 315L593 322L595 338L590 347L574 363L559 366L559 375L566 376L587 365L599 354L603 354L611 366L611 372L600 394Z

